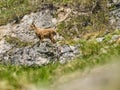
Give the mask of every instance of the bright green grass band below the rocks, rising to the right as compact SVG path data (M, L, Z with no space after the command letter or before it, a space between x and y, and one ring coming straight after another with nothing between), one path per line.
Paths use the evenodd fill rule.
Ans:
M108 37L110 38L110 35L106 36L102 43L96 40L79 40L76 44L81 45L82 55L66 64L56 62L46 66L0 65L0 89L5 88L3 83L8 87L1 90L27 90L41 84L49 86L65 74L108 63L120 55L119 44L108 44Z

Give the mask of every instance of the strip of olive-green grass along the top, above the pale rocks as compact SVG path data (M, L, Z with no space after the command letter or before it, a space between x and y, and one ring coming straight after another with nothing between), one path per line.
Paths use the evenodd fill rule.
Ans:
M55 6L69 5L71 7L82 6L92 8L96 0L0 0L0 25L20 19L30 12L35 12L44 4L54 4ZM107 0L101 0L100 5L104 12ZM77 6L76 6L77 5Z

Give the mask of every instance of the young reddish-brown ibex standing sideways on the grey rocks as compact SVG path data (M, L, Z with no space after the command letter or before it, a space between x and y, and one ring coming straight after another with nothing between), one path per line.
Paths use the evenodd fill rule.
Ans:
M54 36L57 34L53 28L41 29L36 27L34 23L31 24L31 28L34 29L36 35L39 37L40 41L43 42L43 39L48 38L52 43L55 43Z

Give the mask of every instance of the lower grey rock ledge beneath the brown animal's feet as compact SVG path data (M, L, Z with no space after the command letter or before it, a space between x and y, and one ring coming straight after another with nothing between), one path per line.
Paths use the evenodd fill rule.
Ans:
M1 41L2 44L6 44ZM56 45L57 46L57 45ZM69 45L58 45L58 47L53 46L50 42L40 43L40 45L35 44L31 47L22 48L12 48L9 44L2 48L0 53L3 56L3 63L14 64L14 65L43 65L50 62L55 62L59 60L61 63L65 63L72 60L79 55L79 50L74 46Z

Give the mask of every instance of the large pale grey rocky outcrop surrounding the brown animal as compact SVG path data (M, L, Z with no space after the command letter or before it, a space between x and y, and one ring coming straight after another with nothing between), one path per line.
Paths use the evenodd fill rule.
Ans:
M77 46L52 44L49 40L40 43L30 25L34 21L37 27L55 27L57 19L51 10L43 9L25 15L19 24L8 24L0 28L0 63L14 65L45 65L74 59L80 55ZM61 36L57 36L61 39Z

